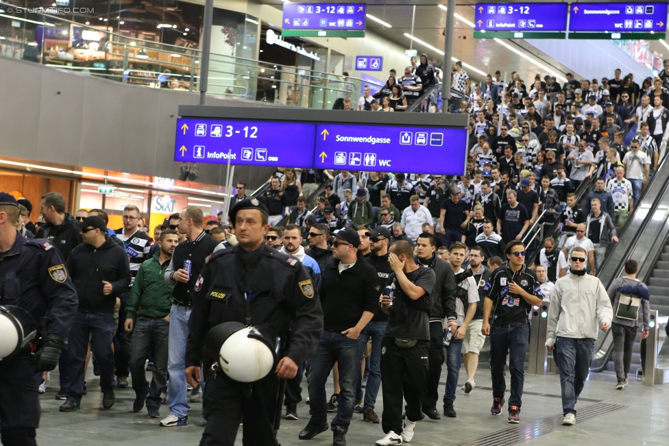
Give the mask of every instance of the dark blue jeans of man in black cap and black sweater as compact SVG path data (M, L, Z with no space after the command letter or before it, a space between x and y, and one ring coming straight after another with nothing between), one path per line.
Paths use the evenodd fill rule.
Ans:
M345 334L326 330L321 334L321 340L316 353L311 357L309 371L306 375L311 407L309 414L311 414L311 420L317 425L328 423L325 383L332 367L337 362L341 390L339 391L337 416L332 420L332 430L341 426L348 431L353 417L354 391L360 380L363 346L361 338L350 339Z

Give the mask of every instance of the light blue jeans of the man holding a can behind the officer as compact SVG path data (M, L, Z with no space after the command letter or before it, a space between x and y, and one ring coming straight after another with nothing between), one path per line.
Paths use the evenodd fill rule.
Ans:
M188 410L188 384L186 384L186 340L191 307L172 305L169 312L169 352L167 355L167 400L169 413L186 417Z

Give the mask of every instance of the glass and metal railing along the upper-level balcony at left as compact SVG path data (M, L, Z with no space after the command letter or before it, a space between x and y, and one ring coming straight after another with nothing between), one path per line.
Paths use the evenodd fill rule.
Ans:
M38 13L9 14L0 2L0 57L28 60L149 88L197 91L202 51L130 38ZM367 82L311 69L210 54L208 95L328 109L337 97L354 101ZM360 93L362 94L362 93Z

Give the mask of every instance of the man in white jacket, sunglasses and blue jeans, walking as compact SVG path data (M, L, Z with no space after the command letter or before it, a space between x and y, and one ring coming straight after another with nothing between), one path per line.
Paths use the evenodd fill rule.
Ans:
M585 274L585 249L572 249L570 273L555 282L548 308L546 347L555 349L562 388L563 425L576 423L576 400L589 373L597 330L609 330L613 310L606 288Z

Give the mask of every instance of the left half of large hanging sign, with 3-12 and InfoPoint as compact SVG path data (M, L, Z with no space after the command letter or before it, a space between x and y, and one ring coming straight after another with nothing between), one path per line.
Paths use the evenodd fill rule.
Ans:
M174 160L311 168L315 131L309 123L180 118Z

